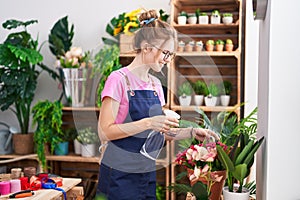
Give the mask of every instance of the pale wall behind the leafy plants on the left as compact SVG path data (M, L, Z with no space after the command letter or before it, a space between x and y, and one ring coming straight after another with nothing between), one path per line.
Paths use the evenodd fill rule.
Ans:
M101 37L108 36L105 27L112 17L140 7L163 9L170 13L168 0L130 0L128 2L130 3L116 0L2 0L0 5L0 42L2 43L8 34L8 31L2 28L2 23L7 19L23 21L37 19L38 24L30 26L29 31L34 37L38 36L39 44L42 44L47 41L54 23L68 15L69 23L73 23L75 26L73 46L80 46L84 51L97 50L103 45ZM55 58L48 48L48 43L44 44L41 53L44 56L45 64L49 67L53 66ZM60 93L58 84L50 79L46 72L43 72L39 77L35 102L39 99L58 99ZM10 111L0 111L0 121L18 127L16 118Z

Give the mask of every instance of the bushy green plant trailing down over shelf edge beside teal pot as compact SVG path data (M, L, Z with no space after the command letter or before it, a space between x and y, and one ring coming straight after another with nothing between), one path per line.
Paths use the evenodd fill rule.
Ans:
M47 168L45 145L50 144L53 153L59 142L63 141L65 134L62 132L62 103L49 100L39 101L32 108L33 125L37 125L34 132L36 152L43 169Z

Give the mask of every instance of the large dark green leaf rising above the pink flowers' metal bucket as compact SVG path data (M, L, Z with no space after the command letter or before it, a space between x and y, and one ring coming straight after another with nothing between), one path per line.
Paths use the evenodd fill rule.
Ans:
M69 28L68 16L59 19L48 35L49 48L57 59L64 56L72 46L72 39L74 37L74 25Z

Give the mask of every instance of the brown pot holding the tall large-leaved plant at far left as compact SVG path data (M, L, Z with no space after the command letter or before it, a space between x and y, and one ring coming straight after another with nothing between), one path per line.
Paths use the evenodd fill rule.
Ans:
M13 134L14 152L18 155L26 155L33 153L33 133Z

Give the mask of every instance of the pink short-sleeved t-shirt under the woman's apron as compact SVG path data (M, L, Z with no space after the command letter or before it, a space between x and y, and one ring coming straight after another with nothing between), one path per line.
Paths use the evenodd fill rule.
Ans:
M104 97L111 97L112 99L116 100L120 103L119 111L116 117L116 124L123 123L129 108L128 102L128 86L126 84L126 79L123 74L126 74L130 83L130 88L132 90L153 90L152 81L155 84L155 90L158 93L159 100L161 105L165 105L165 98L163 89L161 86L161 82L155 76L149 74L150 80L149 82L142 81L140 78L132 74L127 67L123 67L119 70L113 71L105 82L104 89L101 94L101 100L103 101Z

